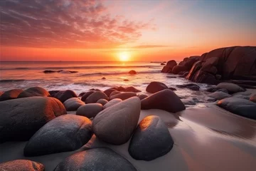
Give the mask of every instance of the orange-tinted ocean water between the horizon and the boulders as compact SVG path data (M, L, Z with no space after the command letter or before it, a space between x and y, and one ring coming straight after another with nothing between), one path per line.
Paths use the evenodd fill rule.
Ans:
M90 88L105 90L113 86L134 86L146 93L146 86L151 81L160 81L169 87L191 83L184 78L168 78L173 74L161 73L161 63L153 62L0 62L0 90L13 88L26 89L41 86L46 90L73 90L79 94ZM60 71L43 73L43 71ZM130 70L137 71L129 75ZM68 71L77 71L69 73ZM106 79L102 79L105 77ZM124 81L128 80L128 81ZM204 90L206 84L198 84ZM193 97L198 92L186 88L176 88L181 98Z

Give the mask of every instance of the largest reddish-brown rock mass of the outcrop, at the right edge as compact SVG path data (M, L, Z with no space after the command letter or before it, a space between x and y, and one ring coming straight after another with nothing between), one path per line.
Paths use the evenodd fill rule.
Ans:
M203 53L186 77L197 83L256 80L256 46L233 46Z

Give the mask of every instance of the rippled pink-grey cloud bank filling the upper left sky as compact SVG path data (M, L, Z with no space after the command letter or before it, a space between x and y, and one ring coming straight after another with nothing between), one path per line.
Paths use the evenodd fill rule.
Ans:
M155 27L112 17L100 0L1 0L0 16L1 46L114 48Z

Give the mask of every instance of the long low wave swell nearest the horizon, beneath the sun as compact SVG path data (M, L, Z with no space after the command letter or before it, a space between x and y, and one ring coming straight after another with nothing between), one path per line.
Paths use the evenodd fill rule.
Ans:
M18 67L0 68L0 70L49 70L49 69L97 69L97 68L158 68L159 66L54 66L54 67ZM161 67L161 66L160 66Z

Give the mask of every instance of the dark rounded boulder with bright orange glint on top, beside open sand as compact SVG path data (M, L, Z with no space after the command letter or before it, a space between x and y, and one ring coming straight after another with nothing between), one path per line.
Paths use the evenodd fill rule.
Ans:
M129 154L136 160L154 160L166 155L174 146L168 128L159 116L144 118L132 135Z

